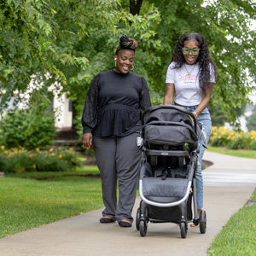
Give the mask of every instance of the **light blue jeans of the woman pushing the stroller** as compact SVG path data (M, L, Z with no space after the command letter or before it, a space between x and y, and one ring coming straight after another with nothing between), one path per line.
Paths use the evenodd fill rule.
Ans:
M188 109L189 111L195 111L197 107L183 107ZM197 122L201 123L202 131L207 134L206 143L209 142L211 131L212 131L212 119L211 114L208 108L205 108L196 118ZM197 172L195 176L195 189L196 189L196 204L197 209L201 209L203 207L203 193L204 193L204 186L203 186L203 177L201 174L201 160L205 153L205 149L201 144L199 145L200 153L198 155L198 165L197 165Z

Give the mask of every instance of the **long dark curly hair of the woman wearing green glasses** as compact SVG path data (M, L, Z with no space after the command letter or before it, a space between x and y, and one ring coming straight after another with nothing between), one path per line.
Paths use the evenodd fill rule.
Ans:
M207 90L207 82L211 80L211 69L214 73L214 77L216 80L217 77L217 69L209 55L209 49L207 46L207 42L205 38L198 33L186 33L183 34L180 38L177 39L177 44L172 54L172 61L176 62L174 68L182 67L186 62L183 56L183 45L185 41L193 40L198 42L198 47L200 48L200 52L197 58L197 63L199 64L199 86L205 91Z

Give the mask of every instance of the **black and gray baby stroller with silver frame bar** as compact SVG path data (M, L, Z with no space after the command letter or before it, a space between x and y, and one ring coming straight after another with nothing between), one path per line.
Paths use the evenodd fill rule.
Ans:
M187 236L188 222L206 232L206 212L198 216L196 207L199 130L194 114L181 107L160 105L143 113L142 200L136 215L141 236L146 236L148 222L179 224L182 238Z

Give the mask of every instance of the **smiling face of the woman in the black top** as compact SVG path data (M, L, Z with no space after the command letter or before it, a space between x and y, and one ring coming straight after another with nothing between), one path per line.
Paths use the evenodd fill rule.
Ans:
M135 52L132 49L120 49L118 55L114 55L114 59L116 59L114 71L124 74L129 73L132 68L134 54Z

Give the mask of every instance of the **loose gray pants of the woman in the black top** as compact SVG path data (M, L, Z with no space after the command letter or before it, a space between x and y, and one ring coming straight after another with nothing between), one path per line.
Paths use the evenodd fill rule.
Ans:
M136 199L137 176L140 168L141 151L137 147L139 133L125 137L93 137L96 163L102 177L103 216L118 222L125 218L133 221L131 211ZM119 201L117 204L117 179Z

